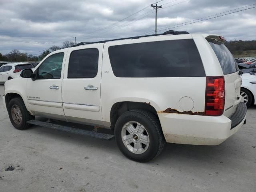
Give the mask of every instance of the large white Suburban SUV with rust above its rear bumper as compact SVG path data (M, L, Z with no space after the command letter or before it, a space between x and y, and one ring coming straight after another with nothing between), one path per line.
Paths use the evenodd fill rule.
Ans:
M218 145L242 127L247 111L224 42L168 31L80 43L6 82L4 104L20 130L38 124L100 137L34 116L112 129L121 152L139 162L160 154L165 142Z

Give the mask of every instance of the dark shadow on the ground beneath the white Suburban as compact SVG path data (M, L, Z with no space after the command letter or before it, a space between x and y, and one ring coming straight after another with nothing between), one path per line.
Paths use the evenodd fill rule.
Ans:
M254 108L256 107L254 106ZM36 118L36 119L47 120L43 118ZM56 122L52 122L52 123L56 123ZM67 122L61 122L61 123L58 122L58 124L63 124L67 126ZM72 124L69 124L69 126L72 126ZM86 125L80 125L79 128L82 128L85 130L94 129L93 126L86 126ZM59 142L70 143L70 144L78 145L79 147L89 146L89 147L94 147L95 150L99 150L99 151L108 150L108 153L110 154L110 156L120 156L120 158L123 158L123 155L119 151L118 147L116 146L116 142L114 140L110 140L110 141L100 140L96 138L57 131L51 128L44 128L40 126L32 126L26 131L28 132L32 131L36 134L43 135L48 138L52 138L54 140L58 140ZM110 130L106 130L106 129L98 128L98 131L108 133L108 134L113 134ZM243 141L240 139L241 138L236 138L236 136L232 136L231 138L228 138L228 140L226 140L225 142L223 142L218 146L197 146L197 145L167 143L162 154L160 154L158 158L155 158L154 160L148 162L148 164L153 163L153 164L161 164L161 165L169 166L170 161L180 163L180 161L184 160L184 163L185 163L189 160L190 162L193 161L195 163L194 165L196 166L200 166L200 164L202 166L205 166L205 164L209 164L209 163L214 164L214 163L222 162L222 156L223 158L225 158L226 156L229 156L232 159L236 159L237 155L242 152L242 149L237 148L237 145L234 145L234 143L235 142L242 143ZM239 152L240 150L241 152ZM234 153L234 151L236 152Z

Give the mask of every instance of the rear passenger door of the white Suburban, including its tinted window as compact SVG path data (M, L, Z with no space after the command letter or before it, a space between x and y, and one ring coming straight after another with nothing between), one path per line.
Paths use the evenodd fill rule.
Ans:
M88 48L86 48L88 47ZM62 100L70 122L102 126L100 84L103 44L70 48L62 82Z

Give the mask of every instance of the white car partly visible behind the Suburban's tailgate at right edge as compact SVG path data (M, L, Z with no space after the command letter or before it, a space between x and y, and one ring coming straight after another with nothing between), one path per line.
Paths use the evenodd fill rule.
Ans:
M247 106L256 104L256 73L242 74L241 96L244 97L244 103Z

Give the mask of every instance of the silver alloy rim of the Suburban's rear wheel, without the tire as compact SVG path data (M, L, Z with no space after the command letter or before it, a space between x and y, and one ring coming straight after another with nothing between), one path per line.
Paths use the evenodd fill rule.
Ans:
M134 154L146 152L149 146L149 136L146 128L135 121L127 122L121 131L122 141L126 148Z

